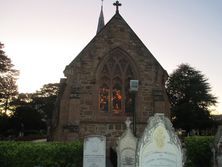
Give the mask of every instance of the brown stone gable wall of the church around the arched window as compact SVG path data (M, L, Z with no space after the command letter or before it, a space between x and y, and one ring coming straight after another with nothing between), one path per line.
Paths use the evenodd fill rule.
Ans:
M60 97L55 140L82 139L86 135L106 135L108 146L115 144L125 129L129 113L99 111L99 76L104 63L114 55L126 57L134 79L137 133L141 134L149 116L169 115L165 92L166 71L141 42L120 14L115 14L82 52L65 68L66 86ZM123 64L124 65L124 64Z

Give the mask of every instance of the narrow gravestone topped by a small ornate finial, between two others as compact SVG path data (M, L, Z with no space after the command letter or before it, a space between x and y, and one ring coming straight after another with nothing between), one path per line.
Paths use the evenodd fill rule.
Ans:
M129 117L125 124L126 130L117 142L118 167L135 167L137 138L130 129Z

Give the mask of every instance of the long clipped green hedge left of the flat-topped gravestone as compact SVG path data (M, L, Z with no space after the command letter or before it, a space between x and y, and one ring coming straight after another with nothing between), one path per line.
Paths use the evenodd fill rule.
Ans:
M81 142L0 142L1 167L81 167L82 157Z

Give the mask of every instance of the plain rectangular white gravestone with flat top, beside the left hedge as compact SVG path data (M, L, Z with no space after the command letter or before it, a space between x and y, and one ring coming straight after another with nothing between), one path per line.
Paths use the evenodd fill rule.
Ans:
M106 137L87 136L83 145L83 167L105 167Z

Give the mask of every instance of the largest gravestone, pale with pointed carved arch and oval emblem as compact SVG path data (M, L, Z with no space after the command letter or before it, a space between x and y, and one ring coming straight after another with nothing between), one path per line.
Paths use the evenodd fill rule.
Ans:
M182 167L182 147L170 120L164 114L150 117L139 140L137 167Z

